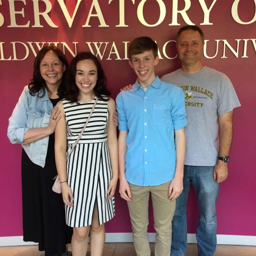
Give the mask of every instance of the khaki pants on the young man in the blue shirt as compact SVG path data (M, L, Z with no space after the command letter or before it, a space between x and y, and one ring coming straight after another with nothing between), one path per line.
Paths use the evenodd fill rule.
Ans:
M175 201L170 202L168 199L170 182L158 186L136 186L130 183L129 185L132 193L132 202L128 202L128 208L137 256L150 256L148 241L148 202L150 192L156 231L155 256L170 256L171 220L175 211Z

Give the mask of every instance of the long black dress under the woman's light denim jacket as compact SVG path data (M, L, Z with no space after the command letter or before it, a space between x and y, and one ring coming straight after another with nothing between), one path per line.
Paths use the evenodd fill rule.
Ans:
M50 100L56 106L60 99ZM45 256L64 253L72 237L72 229L65 222L62 195L52 191L56 175L53 133L49 136L44 168L22 151L23 240L38 243Z

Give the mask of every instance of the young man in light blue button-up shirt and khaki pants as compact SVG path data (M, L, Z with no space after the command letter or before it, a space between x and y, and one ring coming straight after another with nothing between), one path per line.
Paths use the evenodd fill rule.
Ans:
M150 256L148 200L153 202L155 255L169 256L175 199L183 190L186 113L181 88L154 71L157 45L139 37L129 46L137 75L130 91L117 95L120 195L127 200L138 256Z

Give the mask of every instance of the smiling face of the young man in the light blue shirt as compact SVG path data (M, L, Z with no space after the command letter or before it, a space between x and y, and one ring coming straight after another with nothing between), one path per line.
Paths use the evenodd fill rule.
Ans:
M155 65L158 63L158 56L155 57L153 51L145 51L141 54L134 54L129 64L137 75L139 84L146 88L155 79Z

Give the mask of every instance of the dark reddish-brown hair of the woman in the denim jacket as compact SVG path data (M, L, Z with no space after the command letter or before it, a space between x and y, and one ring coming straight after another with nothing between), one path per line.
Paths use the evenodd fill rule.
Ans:
M34 59L33 78L31 79L31 82L29 84L29 93L33 96L36 95L40 91L41 88L46 88L47 91L51 94L51 92L49 91L49 88L47 88L46 82L43 79L43 77L41 76L41 72L40 72L41 60L44 58L45 54L49 51L52 51L57 55L57 57L59 58L61 63L63 63L63 65L66 66L66 70L68 68L67 59L66 59L64 53L57 46L54 46L54 45L44 46L37 53L36 59ZM63 73L63 78L65 75L65 72ZM64 87L63 80L64 79L62 79L60 86L58 88L58 95L59 95L60 99L63 99L63 96L64 96L64 88L65 87ZM38 95L38 97L43 98L44 95L45 95L45 90L43 90L43 93Z

